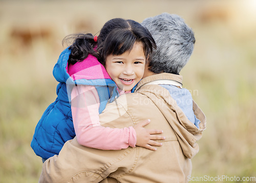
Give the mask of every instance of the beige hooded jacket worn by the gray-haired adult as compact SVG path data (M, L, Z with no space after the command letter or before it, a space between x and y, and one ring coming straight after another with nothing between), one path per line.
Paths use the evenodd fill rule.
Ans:
M182 83L182 76L162 73L145 77L136 93L120 96L100 115L102 125L117 128L151 119L146 128L162 129L166 137L157 151L142 147L99 150L81 146L75 138L44 163L39 182L187 182L190 159L199 150L196 141L206 127L205 115L194 103L201 121L198 129L165 88L151 85L161 80Z

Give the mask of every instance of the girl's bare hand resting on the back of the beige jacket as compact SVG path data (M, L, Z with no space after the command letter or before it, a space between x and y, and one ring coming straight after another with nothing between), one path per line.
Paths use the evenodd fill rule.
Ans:
M145 147L150 150L157 150L157 148L152 146L161 146L162 143L156 142L155 140L164 140L165 137L155 135L162 134L163 131L159 129L146 129L145 125L150 123L150 119L139 122L134 126L136 132L137 142L136 145L140 147Z

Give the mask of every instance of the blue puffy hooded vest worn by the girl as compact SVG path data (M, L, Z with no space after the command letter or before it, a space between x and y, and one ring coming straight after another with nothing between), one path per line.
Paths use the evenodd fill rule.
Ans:
M70 53L71 50L68 48L63 50L54 66L53 75L59 82L56 90L57 98L42 114L31 142L31 147L36 155L43 159L58 154L65 142L75 137L68 95L73 86L95 86L100 100L99 113L105 109L109 100L113 101L113 98L118 96L116 84L110 79L79 79L74 81L67 72Z

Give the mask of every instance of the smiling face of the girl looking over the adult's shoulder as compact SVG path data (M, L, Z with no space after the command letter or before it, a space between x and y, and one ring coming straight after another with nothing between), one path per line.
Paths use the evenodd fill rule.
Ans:
M143 44L135 42L131 51L107 56L105 68L120 90L130 91L142 79L145 63Z

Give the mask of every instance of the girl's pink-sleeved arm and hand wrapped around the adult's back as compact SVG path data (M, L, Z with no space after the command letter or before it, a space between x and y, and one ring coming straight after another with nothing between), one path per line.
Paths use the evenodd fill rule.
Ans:
M99 122L99 97L93 86L78 85L71 93L71 110L77 141L80 145L103 149L118 150L136 145L136 130L139 132L139 146L156 150L151 145L159 146L160 143L152 140L159 140L161 136L148 134L160 134L148 132L143 126L147 122L139 123L135 127L110 128L103 127ZM136 130L135 130L136 129ZM159 131L159 130L158 130ZM152 137L154 136L154 138Z

